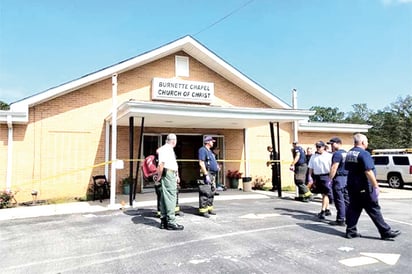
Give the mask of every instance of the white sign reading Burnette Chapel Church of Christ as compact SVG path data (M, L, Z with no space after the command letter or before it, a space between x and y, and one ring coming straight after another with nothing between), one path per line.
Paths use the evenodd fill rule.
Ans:
M213 83L164 78L152 81L152 100L210 104L213 96Z

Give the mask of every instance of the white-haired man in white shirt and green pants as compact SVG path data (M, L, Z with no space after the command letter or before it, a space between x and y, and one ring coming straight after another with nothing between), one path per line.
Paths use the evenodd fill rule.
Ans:
M158 178L160 178L160 228L167 230L183 230L184 227L176 223L175 207L177 195L177 161L174 147L177 138L175 134L169 134L166 144L158 149L159 165L157 166Z

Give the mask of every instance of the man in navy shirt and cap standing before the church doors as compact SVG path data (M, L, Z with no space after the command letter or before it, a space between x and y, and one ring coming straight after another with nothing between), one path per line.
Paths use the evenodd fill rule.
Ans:
M206 218L216 215L213 211L216 174L219 171L214 153L211 151L214 142L211 136L203 138L203 146L199 148L198 159L202 181L199 184L199 214Z

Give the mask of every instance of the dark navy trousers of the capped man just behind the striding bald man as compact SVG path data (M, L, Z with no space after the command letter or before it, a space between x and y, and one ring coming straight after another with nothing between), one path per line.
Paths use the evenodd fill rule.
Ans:
M344 221L349 205L349 195L346 189L346 176L336 176L332 182L333 199L336 207L336 220Z

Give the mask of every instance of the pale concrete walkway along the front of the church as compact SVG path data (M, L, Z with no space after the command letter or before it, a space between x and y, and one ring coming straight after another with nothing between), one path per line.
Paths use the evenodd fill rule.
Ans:
M270 191L251 191L244 192L236 189L228 189L227 191L219 192L219 196L215 196L215 201L223 200L247 200L247 199L269 199L277 198L277 192ZM282 198L294 199L294 192L282 192ZM320 199L320 196L318 197ZM196 203L198 202L197 192L179 193L179 204ZM319 200L315 197L315 201ZM412 199L412 189L390 189L381 187L380 199ZM40 216L64 215L74 213L93 213L108 210L122 210L130 208L128 195L116 196L115 205L109 204L109 199L87 202L72 202L50 205L33 205L33 206L18 206L14 208L0 209L0 221L12 220L21 218L33 218ZM122 204L124 206L122 206ZM153 207L156 208L156 195L154 192L138 193L132 208Z

